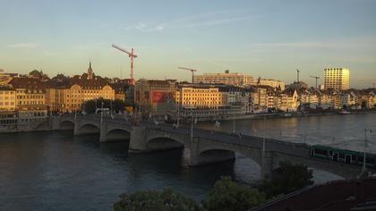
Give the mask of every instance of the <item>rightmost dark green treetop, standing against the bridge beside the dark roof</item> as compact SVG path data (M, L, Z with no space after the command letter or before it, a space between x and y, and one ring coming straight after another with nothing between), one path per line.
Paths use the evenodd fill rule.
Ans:
M262 182L259 190L264 192L267 198L272 198L311 185L312 178L312 171L309 171L306 165L293 165L285 161Z

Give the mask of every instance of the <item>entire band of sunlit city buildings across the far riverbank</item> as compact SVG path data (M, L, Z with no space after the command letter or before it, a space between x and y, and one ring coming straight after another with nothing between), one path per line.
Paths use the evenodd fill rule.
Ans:
M279 80L254 80L251 76L228 71L195 76L194 83L138 80L134 86L129 80L96 76L91 63L87 73L73 77L59 74L46 79L42 72L34 73L39 78L0 75L0 110L35 111L36 115L40 111L74 112L81 111L85 101L99 97L127 99L138 105L144 115L181 115L183 118L192 114L218 118L278 110L295 112L298 109L372 108L375 105L374 89L308 89L301 81L299 86L296 83L285 87ZM328 69L325 74L344 78L343 75L348 76L348 70Z

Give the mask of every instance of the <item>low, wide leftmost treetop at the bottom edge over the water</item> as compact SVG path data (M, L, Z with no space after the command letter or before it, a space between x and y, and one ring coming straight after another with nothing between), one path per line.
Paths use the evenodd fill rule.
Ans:
M115 202L115 211L195 211L200 207L191 199L172 190L138 191L131 195L123 193Z

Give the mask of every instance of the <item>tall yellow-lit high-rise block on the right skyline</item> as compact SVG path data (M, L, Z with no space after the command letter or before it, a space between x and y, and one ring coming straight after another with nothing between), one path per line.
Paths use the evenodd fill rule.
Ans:
M349 89L350 71L346 68L326 68L324 70L324 86L325 89Z

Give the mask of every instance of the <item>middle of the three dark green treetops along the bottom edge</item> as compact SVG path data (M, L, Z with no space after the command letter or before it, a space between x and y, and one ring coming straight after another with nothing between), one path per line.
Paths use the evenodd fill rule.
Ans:
M221 177L210 190L209 197L202 201L202 206L208 211L242 211L264 201L264 195L258 190L232 181L231 177Z

